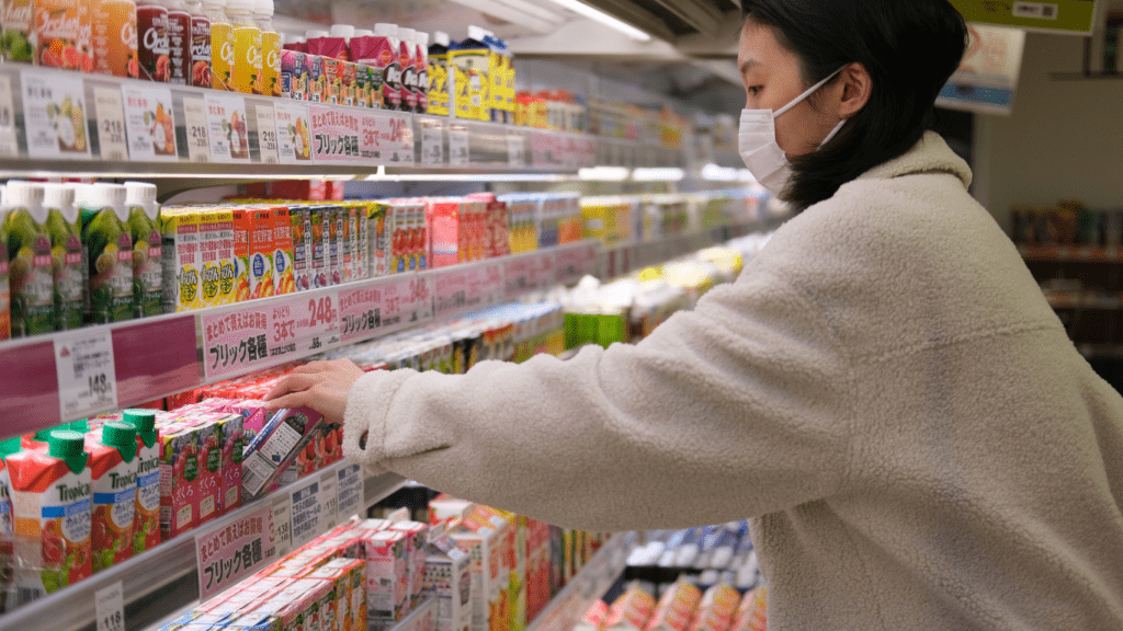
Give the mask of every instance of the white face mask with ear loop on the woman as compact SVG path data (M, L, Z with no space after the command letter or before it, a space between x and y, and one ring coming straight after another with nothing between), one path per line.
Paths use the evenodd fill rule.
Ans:
M757 182L760 182L773 194L778 195L787 186L788 180L792 179L792 163L787 161L784 149L776 144L776 118L813 94L815 90L825 85L840 72L842 68L834 71L830 76L812 85L794 101L776 111L741 110L741 127L737 138L738 152L741 154L741 159L745 161L745 166L749 168ZM846 119L836 125L819 146L822 147L829 143L842 129L843 125L846 125Z

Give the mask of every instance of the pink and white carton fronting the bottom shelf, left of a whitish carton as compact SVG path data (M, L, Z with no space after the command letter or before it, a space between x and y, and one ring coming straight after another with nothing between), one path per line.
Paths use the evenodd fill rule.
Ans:
M381 530L364 540L366 607L372 621L398 621L409 607L407 534Z

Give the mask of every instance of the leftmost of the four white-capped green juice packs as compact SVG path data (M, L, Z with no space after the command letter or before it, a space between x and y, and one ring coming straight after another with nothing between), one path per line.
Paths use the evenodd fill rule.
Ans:
M43 186L9 182L0 208L8 234L11 336L51 332L55 330L54 258Z

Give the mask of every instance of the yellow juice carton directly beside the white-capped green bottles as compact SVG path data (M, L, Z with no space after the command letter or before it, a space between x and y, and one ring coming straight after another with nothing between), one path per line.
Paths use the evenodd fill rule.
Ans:
M167 313L190 311L199 305L199 269L202 264L199 221L198 210L164 209L161 240L164 311Z

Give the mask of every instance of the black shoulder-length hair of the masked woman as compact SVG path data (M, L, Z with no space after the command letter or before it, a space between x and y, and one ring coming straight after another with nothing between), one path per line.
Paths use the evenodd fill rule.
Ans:
M873 80L861 111L818 152L792 161L780 198L796 211L912 148L932 127L935 98L967 47L967 25L948 0L742 0L741 8L795 53L807 86L855 62Z

